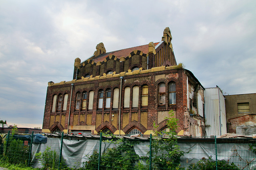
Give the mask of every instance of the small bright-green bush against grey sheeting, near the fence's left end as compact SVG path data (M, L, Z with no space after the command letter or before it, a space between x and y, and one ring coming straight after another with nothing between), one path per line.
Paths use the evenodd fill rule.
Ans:
M44 152L38 152L35 154L36 158L39 159L42 164L43 170L54 170L59 168L60 156L55 150L51 150L51 147L46 147ZM60 169L65 169L65 160L62 158L60 162Z

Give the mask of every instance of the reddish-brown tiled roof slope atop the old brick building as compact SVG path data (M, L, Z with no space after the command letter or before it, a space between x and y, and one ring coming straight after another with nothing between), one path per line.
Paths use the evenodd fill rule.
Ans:
M158 45L158 43L154 43L154 45L156 46L156 45ZM128 48L128 49L122 49L122 50L108 52L108 53L105 53L105 54L101 54L101 55L95 57L92 60L94 61L94 63L97 63L98 61L102 62L102 61L104 61L104 59L106 57L108 57L110 55L114 55L114 56L116 56L116 58L120 59L121 57L129 56L129 54L132 53L132 51L134 51L134 50L139 50L139 51L142 51L142 53L144 53L144 54L148 54L148 44L140 45L140 46L137 46L137 47L131 47L131 48Z

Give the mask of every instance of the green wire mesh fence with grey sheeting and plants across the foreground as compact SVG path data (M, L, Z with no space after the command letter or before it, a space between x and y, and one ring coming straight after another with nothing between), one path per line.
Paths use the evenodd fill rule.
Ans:
M256 166L256 139L252 138L10 132L2 137L2 161L34 168L249 170Z

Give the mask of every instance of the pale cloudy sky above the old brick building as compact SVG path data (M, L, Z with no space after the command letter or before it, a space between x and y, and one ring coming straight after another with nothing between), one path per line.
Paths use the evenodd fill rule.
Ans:
M177 63L204 88L256 93L255 0L0 0L0 119L41 127L48 82L72 80L74 59L172 34Z

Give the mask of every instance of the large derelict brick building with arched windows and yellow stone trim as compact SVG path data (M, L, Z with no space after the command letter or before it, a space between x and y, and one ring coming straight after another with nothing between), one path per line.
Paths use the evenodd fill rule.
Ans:
M162 41L74 62L71 81L49 82L42 132L151 134L166 130L170 110L178 135L204 136L204 88L176 63L170 29Z

